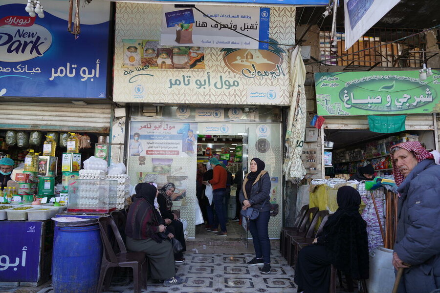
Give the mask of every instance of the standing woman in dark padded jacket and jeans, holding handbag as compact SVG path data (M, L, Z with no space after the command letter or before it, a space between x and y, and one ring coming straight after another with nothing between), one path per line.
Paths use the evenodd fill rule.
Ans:
M249 231L252 234L255 257L248 261L248 266L263 266L262 273L270 272L270 240L268 233L270 217L270 176L264 170L265 164L259 158L250 162L249 173L244 176L240 202L242 209L259 209L260 214L255 220L249 220Z

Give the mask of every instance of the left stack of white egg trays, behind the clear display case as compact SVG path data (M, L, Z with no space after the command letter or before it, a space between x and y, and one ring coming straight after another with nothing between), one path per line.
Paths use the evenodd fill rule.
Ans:
M106 171L80 170L78 179L88 179L87 181L81 181L78 205L89 209L98 208L100 194L103 191L105 192L105 190L101 190L105 188L105 186L102 186L99 180L106 179ZM103 204L103 202L101 202L101 204Z

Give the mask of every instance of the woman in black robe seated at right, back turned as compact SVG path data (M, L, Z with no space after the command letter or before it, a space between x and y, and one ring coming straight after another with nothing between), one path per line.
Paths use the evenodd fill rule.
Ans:
M336 195L338 209L330 215L314 244L298 253L294 281L298 292L328 293L330 265L353 279L368 279L367 224L359 213L359 192L344 186Z

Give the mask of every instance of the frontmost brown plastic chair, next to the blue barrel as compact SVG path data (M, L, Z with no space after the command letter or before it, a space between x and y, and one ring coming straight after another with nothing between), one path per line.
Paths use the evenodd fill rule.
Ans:
M145 252L127 252L121 234L119 234L116 224L110 217L100 217L98 221L104 251L102 253L97 292L102 292L103 285L105 291L109 290L111 276L115 267L130 267L133 269L134 293L141 293L142 288L147 288L147 259ZM118 251L120 252L113 250L111 245L112 237L115 238ZM105 284L104 280L106 280Z

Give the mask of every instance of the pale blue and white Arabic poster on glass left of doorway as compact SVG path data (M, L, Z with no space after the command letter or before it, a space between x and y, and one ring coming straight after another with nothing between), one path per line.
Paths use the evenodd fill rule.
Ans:
M132 122L130 156L196 155L197 125L194 123Z

